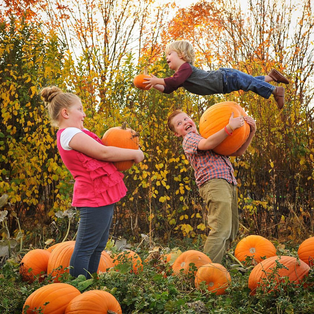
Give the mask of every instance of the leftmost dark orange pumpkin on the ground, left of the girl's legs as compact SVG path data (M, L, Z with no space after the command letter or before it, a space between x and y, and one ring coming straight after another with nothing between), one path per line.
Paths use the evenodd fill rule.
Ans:
M23 281L32 283L34 276L46 274L50 252L42 249L28 251L21 260L19 273L22 275ZM31 268L31 270L30 270ZM39 277L39 281L44 277Z

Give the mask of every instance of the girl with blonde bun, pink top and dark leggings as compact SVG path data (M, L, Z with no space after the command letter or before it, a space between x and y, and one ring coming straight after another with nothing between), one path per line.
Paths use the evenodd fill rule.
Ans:
M77 95L64 93L57 86L45 87L41 97L46 103L51 125L58 127L57 148L73 176L72 206L80 215L70 274L74 277L97 272L101 252L108 241L114 204L126 195L123 174L114 161L144 159L138 149L105 146L100 138L84 128L86 117Z

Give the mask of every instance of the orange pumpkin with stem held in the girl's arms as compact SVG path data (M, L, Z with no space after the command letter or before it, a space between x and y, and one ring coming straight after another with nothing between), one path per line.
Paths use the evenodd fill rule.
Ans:
M127 127L127 122L123 122L121 127L111 127L103 135L101 141L106 146L115 146L120 148L138 149L139 134ZM118 171L124 171L131 168L133 160L116 161L113 163Z

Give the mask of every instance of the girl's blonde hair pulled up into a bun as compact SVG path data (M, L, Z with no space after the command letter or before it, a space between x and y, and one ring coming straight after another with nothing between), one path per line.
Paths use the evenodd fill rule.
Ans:
M53 127L59 125L59 114L63 108L68 109L73 105L73 100L80 100L72 93L63 93L57 86L44 87L41 90L41 97L45 102L46 109L50 118L50 124Z

